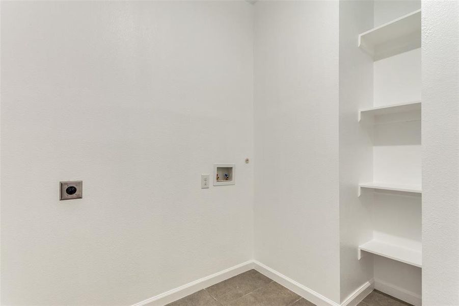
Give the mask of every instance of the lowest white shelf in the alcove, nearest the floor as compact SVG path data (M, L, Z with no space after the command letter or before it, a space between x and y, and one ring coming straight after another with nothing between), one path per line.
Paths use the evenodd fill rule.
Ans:
M390 258L416 267L422 267L421 250L409 249L399 245L371 240L359 246L359 260L362 257L361 251Z

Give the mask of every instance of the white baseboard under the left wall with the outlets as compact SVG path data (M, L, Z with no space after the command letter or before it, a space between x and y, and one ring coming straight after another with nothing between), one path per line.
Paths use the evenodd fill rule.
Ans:
M253 269L252 260L247 261L245 263L241 263L234 267L225 269L223 271L214 273L212 275L197 279L194 282L191 282L183 286L177 287L175 289L169 290L167 292L158 294L156 296L153 296L151 298L148 298L146 300L133 304L132 306L145 306L145 305L164 306L168 303L172 303L173 301L181 299L182 297L185 297L187 295L190 295L192 293L195 293L199 290L215 285L217 283L220 283L224 281L225 279L236 276L237 274L249 271L251 269Z

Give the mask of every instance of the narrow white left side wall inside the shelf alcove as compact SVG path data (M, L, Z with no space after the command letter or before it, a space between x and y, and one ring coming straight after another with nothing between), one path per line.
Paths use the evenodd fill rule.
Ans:
M372 1L339 2L341 301L373 278L372 256L357 259L359 245L373 237L372 193L357 196L359 183L373 179L372 130L357 119L373 101L373 60L357 47L357 37L372 27Z

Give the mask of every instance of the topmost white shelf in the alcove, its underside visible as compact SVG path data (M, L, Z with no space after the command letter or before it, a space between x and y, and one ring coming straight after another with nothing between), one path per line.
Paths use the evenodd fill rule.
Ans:
M359 47L374 61L421 47L421 10L360 34Z

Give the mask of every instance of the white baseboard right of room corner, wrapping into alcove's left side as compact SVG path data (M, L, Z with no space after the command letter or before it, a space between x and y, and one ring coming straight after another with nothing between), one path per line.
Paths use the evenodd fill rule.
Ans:
M373 290L373 283L366 282L354 293L350 294L343 303L338 304L260 262L254 261L254 269L317 306L355 306Z

